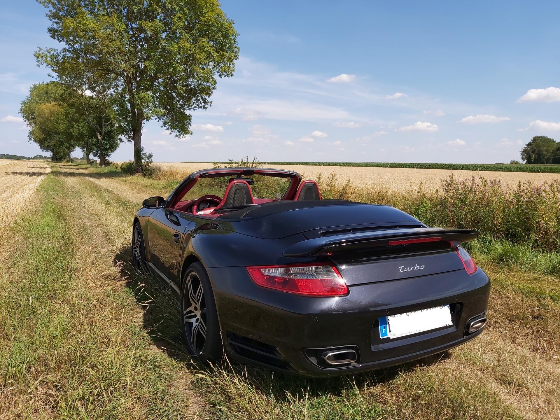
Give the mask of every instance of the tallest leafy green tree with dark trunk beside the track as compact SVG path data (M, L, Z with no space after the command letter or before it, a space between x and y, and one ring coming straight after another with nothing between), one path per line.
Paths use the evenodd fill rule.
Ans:
M206 109L216 76L230 77L237 32L217 0L39 0L61 49L38 54L55 69L80 63L118 82L119 115L141 171L142 126L157 119L176 136L190 134L190 110Z

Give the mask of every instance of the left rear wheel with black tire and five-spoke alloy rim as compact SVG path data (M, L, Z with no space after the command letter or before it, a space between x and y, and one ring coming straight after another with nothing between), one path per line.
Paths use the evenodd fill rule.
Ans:
M186 269L181 290L183 339L189 354L200 362L216 362L223 347L212 286L200 262Z

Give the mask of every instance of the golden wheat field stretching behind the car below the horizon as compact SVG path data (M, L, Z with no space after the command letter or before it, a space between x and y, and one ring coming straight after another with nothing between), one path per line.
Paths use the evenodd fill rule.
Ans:
M156 168L169 178L184 178L194 171L212 167L211 164L186 162L157 162ZM536 174L528 172L488 172L488 171L455 171L446 169L405 169L392 167L352 167L352 166L311 166L311 165L267 165L276 169L288 169L296 171L306 179L327 179L334 172L339 183L351 179L356 185L363 188L379 188L383 186L394 192L416 191L422 183L423 189L430 190L439 188L442 179L453 175L456 179L469 179L472 176L487 179L498 179L504 185L516 186L519 182L531 181L534 183L544 183L560 179L560 174Z

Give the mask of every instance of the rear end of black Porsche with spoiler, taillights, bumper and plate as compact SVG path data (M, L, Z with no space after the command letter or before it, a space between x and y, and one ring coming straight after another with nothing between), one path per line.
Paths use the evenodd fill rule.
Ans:
M486 323L490 282L460 247L475 237L394 223L317 228L289 246L284 238L280 264L208 269L220 279L226 347L258 365L330 376L459 346Z

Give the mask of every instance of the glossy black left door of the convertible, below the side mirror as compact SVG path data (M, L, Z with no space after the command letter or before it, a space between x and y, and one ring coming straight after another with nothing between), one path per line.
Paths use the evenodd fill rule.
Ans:
M148 221L150 261L169 281L180 282L181 244L194 216L169 208L158 208Z

